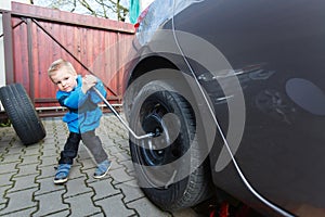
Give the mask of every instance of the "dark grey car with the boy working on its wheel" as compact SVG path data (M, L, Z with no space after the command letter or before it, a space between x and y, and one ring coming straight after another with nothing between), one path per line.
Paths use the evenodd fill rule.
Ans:
M139 184L164 209L224 193L325 216L325 1L156 0L125 85Z

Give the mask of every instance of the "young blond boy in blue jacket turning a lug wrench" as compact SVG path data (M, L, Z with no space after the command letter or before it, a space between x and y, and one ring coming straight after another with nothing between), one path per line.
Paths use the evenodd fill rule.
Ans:
M95 135L95 128L100 126L102 116L98 103L102 100L96 92L91 90L92 87L95 87L103 95L106 95L102 81L92 75L86 75L84 77L77 75L74 66L62 59L51 64L48 75L58 88L56 92L58 103L68 108L63 122L67 123L69 136L61 152L54 183L65 183L67 181L72 164L78 153L80 140L82 140L98 164L94 178L103 178L107 174L112 162L108 161L102 142Z

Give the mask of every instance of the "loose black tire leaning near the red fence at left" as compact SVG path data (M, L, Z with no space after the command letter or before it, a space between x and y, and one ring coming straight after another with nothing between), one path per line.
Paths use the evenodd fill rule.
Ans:
M0 100L13 128L25 145L37 143L46 137L44 127L21 84L0 88Z

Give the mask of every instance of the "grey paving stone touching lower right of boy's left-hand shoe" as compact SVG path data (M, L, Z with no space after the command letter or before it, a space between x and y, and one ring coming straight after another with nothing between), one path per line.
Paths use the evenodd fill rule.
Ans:
M66 182L67 192L64 194L64 197L75 196L77 194L92 192L92 189L86 186L84 178L69 179ZM92 192L92 194L94 194Z

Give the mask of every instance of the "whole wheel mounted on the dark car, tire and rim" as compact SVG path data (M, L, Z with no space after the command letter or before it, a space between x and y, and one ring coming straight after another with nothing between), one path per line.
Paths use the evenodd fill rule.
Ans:
M151 81L139 91L130 114L130 127L138 135L161 133L164 130L167 136L179 132L170 136L174 140L161 149L157 148L161 144L155 142L154 138L130 139L138 182L145 195L165 210L191 207L209 197L212 191L208 162L202 161L193 168L202 159L203 153L198 145L193 145L197 142L196 123L190 103L165 81ZM177 118L170 119L178 119L179 130L166 127L162 117L167 114L176 115ZM169 128L177 123L171 123ZM162 140L166 140L166 135ZM156 146L153 149L147 144ZM174 162L178 163L172 165ZM176 178L174 173L180 171L186 171L185 176Z

